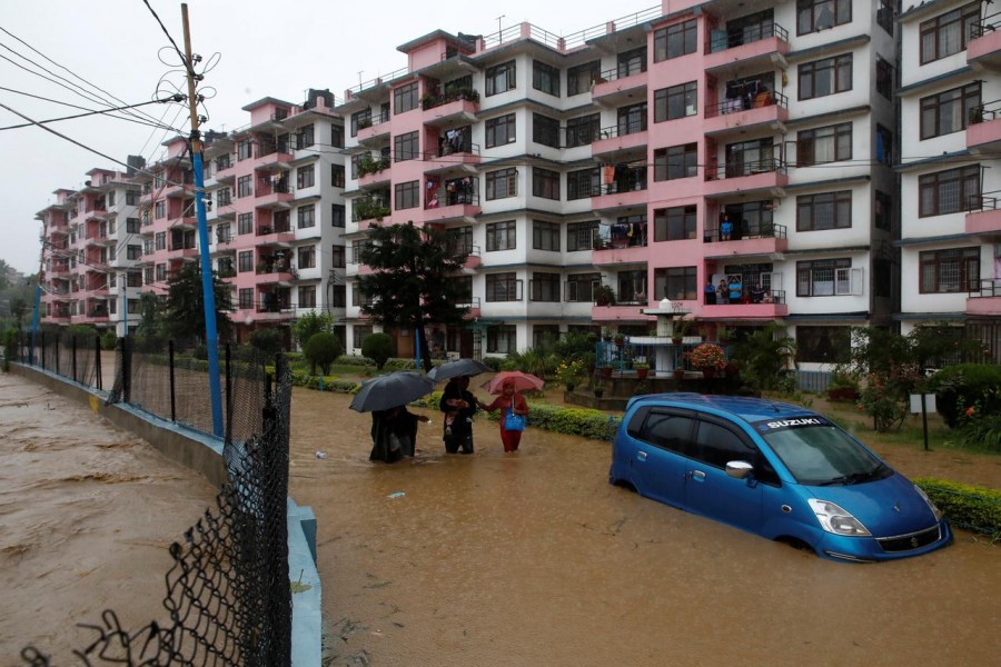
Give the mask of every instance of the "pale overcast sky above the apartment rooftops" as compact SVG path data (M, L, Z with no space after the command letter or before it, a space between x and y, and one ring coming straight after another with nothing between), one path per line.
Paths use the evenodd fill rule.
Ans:
M184 50L181 3L148 1ZM396 48L433 30L490 34L504 14L499 18L504 28L528 21L565 36L658 2L189 0L187 4L192 51L206 59L202 67L214 53L219 57L202 83L206 94L208 87L215 88L204 129L232 130L249 122L241 107L264 97L301 103L307 89L328 88L339 101L345 89L358 84L359 70L360 79L368 81L406 67L406 56ZM30 9L22 0L0 0L0 104L32 120L107 109L95 94L125 106L161 97L158 83L161 91L172 90L172 84L186 92L177 54L142 0L43 0ZM89 91L90 99L78 94L77 87ZM151 104L141 110L185 135L189 131L186 108ZM22 122L0 108L0 128ZM103 116L48 127L122 162L129 155L147 161L160 158L160 143L175 135ZM37 272L41 223L36 213L54 202L53 190L81 188L86 172L98 167L120 168L38 127L0 129L0 259L21 272Z

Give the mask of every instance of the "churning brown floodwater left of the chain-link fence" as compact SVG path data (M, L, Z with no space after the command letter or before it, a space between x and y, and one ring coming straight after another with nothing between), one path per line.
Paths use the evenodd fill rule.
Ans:
M86 406L0 374L0 660L33 644L54 665L113 609L163 620L169 545L216 489Z

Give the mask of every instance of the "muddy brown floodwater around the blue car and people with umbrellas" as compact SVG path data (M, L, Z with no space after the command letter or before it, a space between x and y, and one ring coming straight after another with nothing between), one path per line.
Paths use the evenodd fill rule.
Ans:
M609 486L606 442L529 427L504 455L480 418L476 455L446 456L427 411L416 459L370 464L369 416L349 402L293 400L290 492L317 516L333 665L972 665L1001 651L1001 548L968 532L920 558L834 564ZM955 459L942 465L969 465Z

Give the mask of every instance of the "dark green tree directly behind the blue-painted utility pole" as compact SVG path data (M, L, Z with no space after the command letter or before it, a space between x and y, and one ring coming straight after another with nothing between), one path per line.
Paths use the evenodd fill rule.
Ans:
M212 291L216 298L216 330L219 341L229 340L232 323L227 312L232 311L229 286L212 272ZM163 332L174 340L205 340L205 299L201 295L201 268L186 263L167 281L163 302Z

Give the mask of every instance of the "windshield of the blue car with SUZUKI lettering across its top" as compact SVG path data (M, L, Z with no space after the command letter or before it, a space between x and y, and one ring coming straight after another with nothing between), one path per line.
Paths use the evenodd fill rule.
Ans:
M800 484L863 484L892 475L874 454L823 418L766 421L755 428Z

